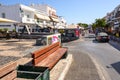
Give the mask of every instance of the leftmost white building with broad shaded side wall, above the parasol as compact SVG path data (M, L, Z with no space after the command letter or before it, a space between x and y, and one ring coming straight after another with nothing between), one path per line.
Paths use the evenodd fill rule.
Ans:
M34 13L35 13L34 8L30 8L22 4L0 6L0 17L15 20L21 23L20 26L23 26L24 24L28 26L35 25ZM6 27L9 30L14 29L14 26L16 27L16 25L12 23L0 24L1 28Z

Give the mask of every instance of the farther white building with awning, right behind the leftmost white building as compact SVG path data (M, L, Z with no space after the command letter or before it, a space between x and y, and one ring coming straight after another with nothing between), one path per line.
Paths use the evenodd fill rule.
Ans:
M59 22L59 17L57 16L56 10L54 8L50 7L47 4L32 4L31 7L49 16L50 21L44 21L44 23L47 23L47 26L49 27L56 28L56 25Z

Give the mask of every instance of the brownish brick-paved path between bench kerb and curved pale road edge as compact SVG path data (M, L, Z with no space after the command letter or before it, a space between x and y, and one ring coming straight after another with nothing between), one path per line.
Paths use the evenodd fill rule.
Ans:
M64 80L102 80L90 56L75 47L80 41L79 39L65 45L69 49L68 53L73 55L73 62Z

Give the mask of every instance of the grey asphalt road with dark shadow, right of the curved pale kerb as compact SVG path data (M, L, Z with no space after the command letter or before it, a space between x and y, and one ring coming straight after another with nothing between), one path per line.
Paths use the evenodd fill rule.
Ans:
M85 39L81 46L105 70L103 71L105 77L109 77L109 80L120 80L120 51L118 49L109 43L100 43L90 38Z

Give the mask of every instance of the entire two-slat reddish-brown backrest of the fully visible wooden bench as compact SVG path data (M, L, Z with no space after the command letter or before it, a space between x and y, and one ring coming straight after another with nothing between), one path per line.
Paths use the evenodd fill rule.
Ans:
M53 43L51 45L48 45L42 49L39 49L32 53L33 58L33 65L37 65L39 62L41 62L43 59L45 59L47 56L55 52L58 48L60 48L60 42Z

